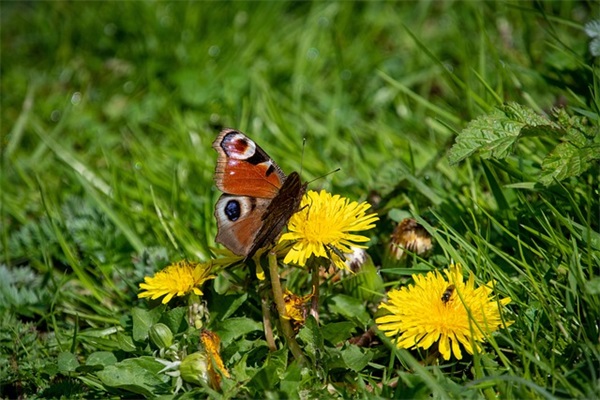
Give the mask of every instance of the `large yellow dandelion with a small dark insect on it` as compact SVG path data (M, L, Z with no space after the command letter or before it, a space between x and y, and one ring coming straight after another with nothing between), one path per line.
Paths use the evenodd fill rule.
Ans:
M479 343L491 332L505 326L500 316L501 306L511 299L492 298L493 282L476 288L473 274L463 282L460 264L450 265L446 276L448 280L438 271L413 275L414 285L391 290L387 303L380 304L380 309L391 314L375 322L386 336L399 335L396 338L399 348L428 349L437 342L445 360L452 354L460 360L459 344L473 354L472 344L479 349Z

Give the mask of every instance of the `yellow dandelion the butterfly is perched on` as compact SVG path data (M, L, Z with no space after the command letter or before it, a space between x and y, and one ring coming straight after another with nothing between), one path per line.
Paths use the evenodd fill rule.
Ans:
M295 241L283 262L304 266L311 256L327 257L338 268L347 268L342 254L352 253L352 246L366 248L358 243L369 240L352 232L371 229L379 219L366 214L370 207L324 190L309 190L300 211L290 218L288 232L281 236L280 242Z

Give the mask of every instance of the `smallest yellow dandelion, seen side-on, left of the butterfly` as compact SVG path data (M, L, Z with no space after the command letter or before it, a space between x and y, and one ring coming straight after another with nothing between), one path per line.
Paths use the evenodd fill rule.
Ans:
M145 277L140 283L141 292L138 298L150 297L152 300L165 296L163 304L168 303L174 296L185 296L188 293L202 295L202 284L213 279L210 275L211 265L192 261L178 261L165 269L158 271L153 277Z

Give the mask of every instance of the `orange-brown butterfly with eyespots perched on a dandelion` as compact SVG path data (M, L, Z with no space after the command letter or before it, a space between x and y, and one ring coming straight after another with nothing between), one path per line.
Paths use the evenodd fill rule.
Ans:
M252 257L273 243L298 211L306 191L300 175L281 168L244 133L224 129L213 142L218 153L215 183L216 241L234 254Z

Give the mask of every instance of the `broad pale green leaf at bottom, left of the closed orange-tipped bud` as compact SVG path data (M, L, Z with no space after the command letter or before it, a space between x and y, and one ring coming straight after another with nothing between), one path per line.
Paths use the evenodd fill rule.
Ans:
M128 358L98 372L98 378L108 387L127 390L144 396L166 392L170 377L158 374L163 365L152 357Z

